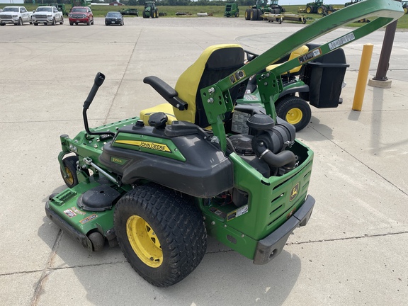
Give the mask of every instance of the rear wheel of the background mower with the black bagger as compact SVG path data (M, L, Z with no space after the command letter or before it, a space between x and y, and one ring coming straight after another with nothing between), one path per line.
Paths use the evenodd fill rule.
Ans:
M276 115L294 125L296 132L304 129L310 118L312 118L312 111L309 104L297 96L285 96L275 104Z

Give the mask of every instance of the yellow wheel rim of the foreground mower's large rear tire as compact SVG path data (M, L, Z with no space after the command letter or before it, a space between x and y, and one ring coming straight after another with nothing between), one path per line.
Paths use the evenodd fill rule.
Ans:
M143 263L152 268L158 268L162 264L162 246L152 227L142 217L129 217L126 233L130 246Z

